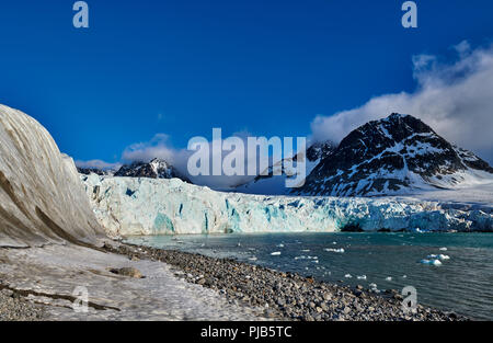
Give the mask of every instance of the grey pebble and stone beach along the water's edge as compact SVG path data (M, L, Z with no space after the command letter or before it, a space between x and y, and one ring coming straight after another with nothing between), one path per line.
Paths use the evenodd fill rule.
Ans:
M463 321L468 318L417 305L404 312L397 290L374 294L362 286L319 282L231 259L215 259L133 244L105 244L130 260L150 259L174 267L175 276L211 288L231 301L263 308L265 317L297 321Z

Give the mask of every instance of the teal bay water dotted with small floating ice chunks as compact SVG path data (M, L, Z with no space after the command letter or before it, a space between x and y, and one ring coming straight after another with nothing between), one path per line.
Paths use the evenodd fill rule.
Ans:
M473 319L493 320L491 233L152 236L128 241L234 258L332 283L365 287L376 284L380 290L413 286L423 305L454 310ZM344 253L325 250L341 248ZM280 255L272 255L273 252L280 252ZM446 254L450 260L439 266L420 263L429 254ZM345 277L347 274L352 278ZM357 278L363 275L366 279Z

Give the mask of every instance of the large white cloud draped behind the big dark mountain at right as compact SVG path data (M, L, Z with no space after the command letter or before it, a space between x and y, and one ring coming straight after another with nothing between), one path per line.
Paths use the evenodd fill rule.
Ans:
M432 55L413 57L413 93L385 94L357 108L317 116L313 138L340 141L358 126L398 112L421 118L450 142L493 162L493 46L471 50L462 42L454 49L457 59L449 64Z

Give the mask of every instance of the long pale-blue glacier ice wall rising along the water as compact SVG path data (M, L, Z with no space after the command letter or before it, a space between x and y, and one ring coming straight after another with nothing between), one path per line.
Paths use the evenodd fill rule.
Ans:
M177 179L80 178L111 236L493 227L490 214L442 208L436 202L248 195L216 192Z

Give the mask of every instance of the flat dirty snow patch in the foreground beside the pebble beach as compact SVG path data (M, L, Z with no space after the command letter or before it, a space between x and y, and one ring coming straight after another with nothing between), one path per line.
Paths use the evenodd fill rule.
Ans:
M214 289L176 278L176 271L158 261L77 245L0 249L0 260L9 261L0 263L3 284L41 294L30 299L51 305L45 308L48 320L265 320L262 309L230 304ZM136 267L146 277L115 275L108 267ZM70 296L80 286L91 302L111 308L76 312Z

